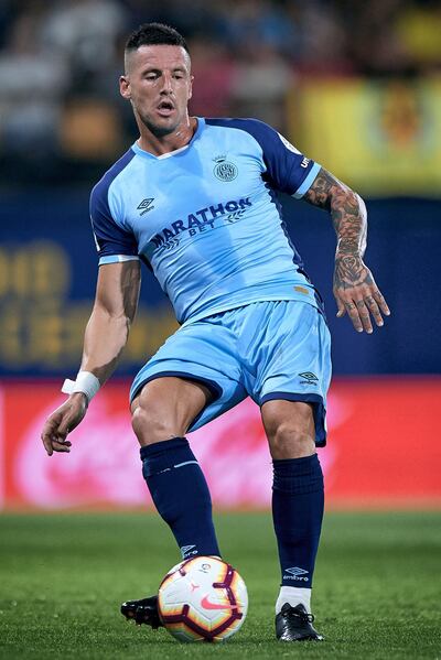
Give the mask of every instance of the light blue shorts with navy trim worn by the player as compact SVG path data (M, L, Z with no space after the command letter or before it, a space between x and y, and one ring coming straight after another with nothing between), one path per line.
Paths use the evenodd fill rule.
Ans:
M200 429L246 397L313 404L315 443L326 443L331 340L322 314L298 301L257 302L184 324L137 374L132 401L164 376L204 383L213 400L193 421Z

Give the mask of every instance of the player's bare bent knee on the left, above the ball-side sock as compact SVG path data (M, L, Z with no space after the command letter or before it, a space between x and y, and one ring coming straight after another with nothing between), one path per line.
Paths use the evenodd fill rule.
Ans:
M160 402L139 402L132 410L131 425L141 446L181 435Z

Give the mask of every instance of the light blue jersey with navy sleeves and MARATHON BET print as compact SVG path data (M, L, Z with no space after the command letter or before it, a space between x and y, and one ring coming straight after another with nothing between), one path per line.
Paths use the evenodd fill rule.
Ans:
M155 156L135 143L90 197L99 263L141 259L180 323L258 301L320 306L276 192L301 198L320 165L255 119L197 119Z

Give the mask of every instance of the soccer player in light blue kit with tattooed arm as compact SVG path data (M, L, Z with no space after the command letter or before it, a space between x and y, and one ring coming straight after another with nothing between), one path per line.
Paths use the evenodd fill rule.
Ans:
M47 454L69 452L83 420L114 371L133 321L140 261L170 297L180 329L136 376L133 431L153 502L183 559L220 556L212 502L184 437L250 396L260 407L273 462L272 515L281 587L276 635L321 640L311 586L323 517L330 335L319 293L288 238L276 191L327 209L337 235L337 316L357 332L383 325L386 301L363 261L361 197L255 119L189 117L191 59L172 28L150 23L126 45L120 91L140 138L90 197L99 255L96 300L80 370L47 419ZM246 461L246 456L244 456ZM160 625L157 597L121 612Z

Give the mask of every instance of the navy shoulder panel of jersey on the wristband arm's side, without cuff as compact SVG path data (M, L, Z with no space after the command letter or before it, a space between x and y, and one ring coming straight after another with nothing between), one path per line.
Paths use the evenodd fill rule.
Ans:
M90 220L99 248L99 257L110 255L138 255L138 246L132 234L125 231L111 215L108 193L111 183L135 158L129 149L96 184L90 194Z

